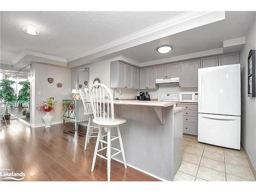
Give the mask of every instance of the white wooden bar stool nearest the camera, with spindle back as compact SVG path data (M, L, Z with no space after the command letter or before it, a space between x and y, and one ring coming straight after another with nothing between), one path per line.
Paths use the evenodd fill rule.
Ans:
M107 160L107 170L108 170L108 181L110 181L110 170L111 170L111 158L122 153L124 167L126 166L126 160L123 150L123 143L122 138L119 130L119 125L126 122L126 119L115 118L114 116L114 101L113 95L108 87L104 84L96 83L94 84L90 91L90 100L91 106L93 110L94 119L93 122L99 125L99 134L97 137L94 155L93 155L93 162L92 162L92 172L94 170L94 165L96 161L96 156L101 157ZM100 106L98 108L98 105ZM101 111L102 110L102 111ZM111 136L111 128L116 127L118 136ZM102 129L106 128L107 133L102 135ZM104 137L107 137L107 141L104 141ZM120 143L120 150L114 147L111 147L111 141L119 139ZM99 142L107 144L107 146L102 147L98 150ZM98 152L103 151L106 149L107 157L98 154ZM113 155L111 155L111 150L117 151Z

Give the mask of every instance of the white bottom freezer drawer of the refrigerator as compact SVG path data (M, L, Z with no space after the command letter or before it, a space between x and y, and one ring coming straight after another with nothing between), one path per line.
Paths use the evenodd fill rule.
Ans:
M239 116L198 113L198 141L240 150Z

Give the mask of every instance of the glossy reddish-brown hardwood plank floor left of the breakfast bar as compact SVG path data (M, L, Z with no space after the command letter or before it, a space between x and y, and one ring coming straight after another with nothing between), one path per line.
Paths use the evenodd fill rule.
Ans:
M91 172L96 138L84 151L85 130L75 132L73 123L33 129L13 119L0 133L0 169L23 172L24 181L106 181L106 160L97 158ZM158 180L112 160L111 181Z

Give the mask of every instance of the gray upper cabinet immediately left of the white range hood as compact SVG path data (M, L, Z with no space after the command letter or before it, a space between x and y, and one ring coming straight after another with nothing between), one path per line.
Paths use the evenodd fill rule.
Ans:
M140 69L140 89L156 89L155 67Z

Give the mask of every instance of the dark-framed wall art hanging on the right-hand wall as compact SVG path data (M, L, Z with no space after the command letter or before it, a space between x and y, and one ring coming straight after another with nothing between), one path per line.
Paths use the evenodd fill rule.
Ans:
M247 96L255 97L255 50L249 51L247 65Z

